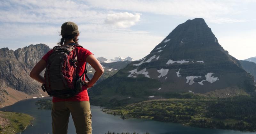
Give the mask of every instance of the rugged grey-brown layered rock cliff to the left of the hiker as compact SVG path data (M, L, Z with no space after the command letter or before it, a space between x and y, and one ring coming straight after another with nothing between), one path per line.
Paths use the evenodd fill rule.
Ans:
M30 78L29 73L34 65L40 61L49 50L50 48L45 44L30 45L15 51L9 50L8 48L0 49L1 103L4 103L4 98L11 96L8 92L9 89L15 89L28 95L40 94L41 84ZM19 98L21 96L13 97Z

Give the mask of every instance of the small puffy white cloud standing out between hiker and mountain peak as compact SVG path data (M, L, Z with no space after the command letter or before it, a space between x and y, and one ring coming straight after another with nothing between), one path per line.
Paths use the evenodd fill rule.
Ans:
M119 28L128 28L138 21L140 21L139 13L120 12L108 14L105 23Z

